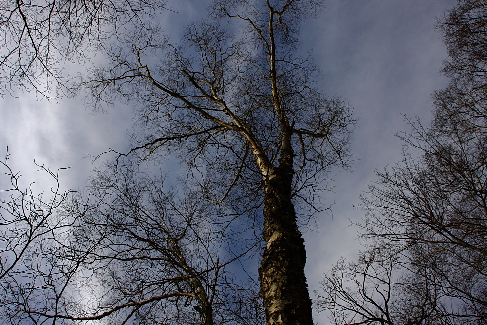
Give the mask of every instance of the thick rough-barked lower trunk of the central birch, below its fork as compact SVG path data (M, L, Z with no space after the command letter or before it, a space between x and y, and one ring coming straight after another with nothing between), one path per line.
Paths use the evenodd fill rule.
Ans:
M268 325L313 325L304 275L306 250L291 202L293 170L277 168L265 183L266 248L259 268Z

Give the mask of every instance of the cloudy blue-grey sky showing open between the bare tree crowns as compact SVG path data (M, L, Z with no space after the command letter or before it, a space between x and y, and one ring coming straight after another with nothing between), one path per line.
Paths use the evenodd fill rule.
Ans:
M167 12L161 25L179 38L184 23L204 15L206 1L173 1L179 13ZM322 70L319 87L348 99L359 122L352 140L355 159L350 172L332 174L333 192L324 192L332 212L319 216L318 231L305 233L306 275L311 295L330 265L340 257L352 261L360 250L357 229L363 211L354 209L374 182L374 170L401 159L394 133L408 131L404 116L431 118L431 93L445 87L441 75L446 50L435 31L436 17L454 0L327 0L320 18L303 25L303 47L312 50ZM82 69L82 67L80 67ZM8 146L10 164L23 174L23 185L47 191L52 182L37 172L34 160L61 172L64 189L83 188L95 167L87 155L128 146L132 108L116 105L92 114L80 99L58 103L17 92L0 99L0 157ZM315 317L328 324L327 315Z

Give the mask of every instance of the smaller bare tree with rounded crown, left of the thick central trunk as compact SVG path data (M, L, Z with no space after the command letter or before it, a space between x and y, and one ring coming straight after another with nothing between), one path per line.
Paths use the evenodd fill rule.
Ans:
M97 315L115 314L123 306L126 311L118 314L140 324L225 324L232 313L241 318L233 324L251 324L250 317L259 324L258 313L234 310L238 302L252 305L253 287L235 283L225 272L257 243L242 239L240 253L225 254L228 233L234 240L238 234L223 211L194 191L180 198L174 189L164 191L161 178L134 165L119 163L115 173L98 173L91 195L100 204L83 213L75 228L75 247L95 248L84 263L103 287L99 306L111 306ZM84 283L93 290L91 276Z

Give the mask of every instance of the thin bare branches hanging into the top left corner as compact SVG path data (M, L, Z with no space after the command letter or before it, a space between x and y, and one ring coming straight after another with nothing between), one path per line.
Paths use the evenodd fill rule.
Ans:
M1 88L35 90L41 96L69 92L66 84L72 76L63 73L66 62L84 61L86 53L118 33L143 26L165 2L1 0Z

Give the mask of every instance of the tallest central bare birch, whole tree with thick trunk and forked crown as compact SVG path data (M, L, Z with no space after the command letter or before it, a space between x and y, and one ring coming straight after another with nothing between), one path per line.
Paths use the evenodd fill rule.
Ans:
M254 225L263 212L259 279L268 324L313 323L298 222L321 209L315 194L327 172L349 166L351 110L316 89L318 69L300 47L300 22L320 5L215 1L182 43L157 28L137 31L126 38L130 48L112 49L112 64L84 84L95 105L138 102L146 132L129 154L173 154L209 201ZM151 64L152 57L163 59Z

